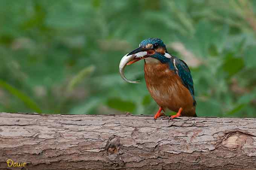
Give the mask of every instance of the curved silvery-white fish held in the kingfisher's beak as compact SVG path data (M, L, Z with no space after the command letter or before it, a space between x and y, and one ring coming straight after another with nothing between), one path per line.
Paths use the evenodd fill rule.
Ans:
M127 53L128 54L128 53ZM131 81L126 79L125 74L124 74L124 70L125 70L125 66L129 61L132 61L134 58L139 58L139 57L143 57L147 54L147 52L139 52L133 55L128 55L127 54L125 56L123 56L123 58L121 59L120 63L119 63L119 73L122 77L123 80L125 80L126 82L129 83L140 83L139 80L137 81Z

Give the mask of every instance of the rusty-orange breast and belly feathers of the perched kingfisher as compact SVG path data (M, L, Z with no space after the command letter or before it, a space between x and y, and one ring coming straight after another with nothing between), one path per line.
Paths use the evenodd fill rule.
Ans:
M174 112L183 108L181 115L195 115L193 97L168 64L145 63L144 71L148 91L159 106Z

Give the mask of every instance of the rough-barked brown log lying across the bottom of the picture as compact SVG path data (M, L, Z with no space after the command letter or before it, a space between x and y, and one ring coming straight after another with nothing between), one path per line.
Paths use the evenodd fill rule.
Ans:
M0 113L0 169L7 159L24 170L254 170L256 119Z

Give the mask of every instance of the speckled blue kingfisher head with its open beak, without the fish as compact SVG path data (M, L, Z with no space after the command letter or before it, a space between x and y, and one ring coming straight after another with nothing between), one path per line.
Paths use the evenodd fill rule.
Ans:
M160 38L148 38L144 39L140 44L139 47L132 52L128 53L128 55L137 54L139 52L145 52L144 55L136 57L128 62L127 65L133 64L141 59L145 58L155 58L158 59L160 62L165 63L168 62L170 59L170 55L166 54L166 46Z

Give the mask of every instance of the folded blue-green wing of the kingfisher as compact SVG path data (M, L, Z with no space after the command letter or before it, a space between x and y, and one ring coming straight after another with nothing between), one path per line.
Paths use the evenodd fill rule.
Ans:
M187 66L186 62L176 57L174 58L174 66L176 73L183 81L183 85L189 90L190 94L192 95L194 99L194 105L196 105L197 102L195 101L194 83L190 74L189 67Z

